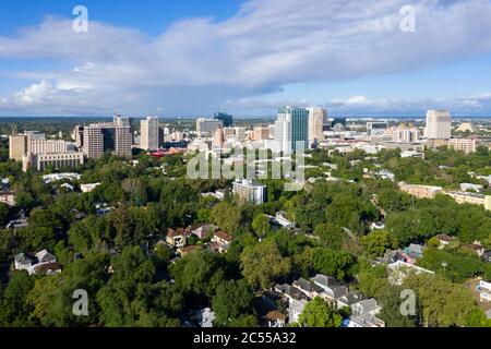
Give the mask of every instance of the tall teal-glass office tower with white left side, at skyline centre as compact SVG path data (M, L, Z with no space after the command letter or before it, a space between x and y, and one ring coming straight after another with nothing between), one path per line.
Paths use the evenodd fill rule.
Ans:
M280 107L275 123L275 140L280 152L291 154L308 148L309 111L298 107ZM298 144L300 144L298 147Z

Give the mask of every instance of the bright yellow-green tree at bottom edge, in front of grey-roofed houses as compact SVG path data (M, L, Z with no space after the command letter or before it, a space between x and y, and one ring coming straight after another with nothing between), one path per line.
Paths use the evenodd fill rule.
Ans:
M343 316L336 312L335 305L320 297L310 301L298 318L302 327L339 327L342 322Z

